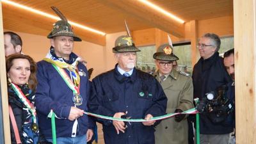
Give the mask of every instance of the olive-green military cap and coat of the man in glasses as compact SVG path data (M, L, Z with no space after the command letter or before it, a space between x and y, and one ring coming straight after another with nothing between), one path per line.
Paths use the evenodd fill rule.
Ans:
M173 54L173 49L170 45L161 45L153 57L156 60L163 61L179 60ZM160 81L158 70L155 77ZM161 86L168 98L166 113L174 113L175 109L186 111L193 108L193 83L188 74L177 72L172 68L172 71L161 83ZM156 126L155 138L156 144L188 144L188 121L186 117L180 122L176 122L175 118L162 120Z

